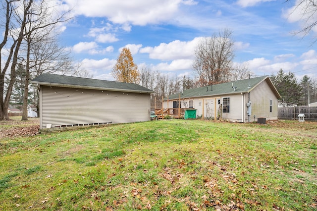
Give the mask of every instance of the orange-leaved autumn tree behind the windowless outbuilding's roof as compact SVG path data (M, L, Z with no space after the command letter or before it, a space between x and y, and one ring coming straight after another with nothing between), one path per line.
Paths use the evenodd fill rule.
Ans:
M124 47L114 65L112 76L116 81L124 83L139 83L140 73L138 66L134 63L130 50Z

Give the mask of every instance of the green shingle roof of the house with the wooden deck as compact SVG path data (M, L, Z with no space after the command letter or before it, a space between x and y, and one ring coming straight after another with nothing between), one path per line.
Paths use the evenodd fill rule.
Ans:
M194 97L197 98L197 97L219 96L219 95L229 95L229 94L231 95L236 93L237 94L248 93L264 80L268 83L268 85L270 86L270 88L272 89L276 97L281 98L268 76L250 78L250 87L249 87L249 79L245 79L240 81L233 81L233 82L227 82L223 84L207 86L208 88L200 87L200 88L184 90L182 93L180 93L180 98L185 99L185 98L194 98ZM235 91L233 87L236 87ZM170 100L178 99L179 94L171 95L168 98Z

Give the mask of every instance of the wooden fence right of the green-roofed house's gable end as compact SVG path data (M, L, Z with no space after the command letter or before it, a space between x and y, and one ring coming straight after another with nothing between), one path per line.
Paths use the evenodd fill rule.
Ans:
M298 114L304 113L305 119L310 121L317 121L317 107L310 106L294 106L294 107L279 107L279 119L298 119Z

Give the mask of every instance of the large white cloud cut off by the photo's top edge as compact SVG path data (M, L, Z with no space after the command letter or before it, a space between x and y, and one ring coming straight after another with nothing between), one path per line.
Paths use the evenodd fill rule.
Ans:
M170 20L181 4L196 4L193 0L65 0L74 15L106 17L116 24L154 24Z

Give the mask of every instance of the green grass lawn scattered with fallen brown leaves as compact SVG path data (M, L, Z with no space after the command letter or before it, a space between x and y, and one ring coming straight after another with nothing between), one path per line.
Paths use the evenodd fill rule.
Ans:
M173 119L2 137L0 210L316 211L316 165L317 123L307 121Z

